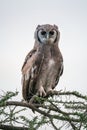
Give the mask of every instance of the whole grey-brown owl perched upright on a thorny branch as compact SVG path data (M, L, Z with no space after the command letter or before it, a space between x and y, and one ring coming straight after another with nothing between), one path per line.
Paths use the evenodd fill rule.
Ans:
M34 38L34 47L22 66L22 95L27 102L34 95L45 97L47 93L54 91L63 73L58 27L38 25Z

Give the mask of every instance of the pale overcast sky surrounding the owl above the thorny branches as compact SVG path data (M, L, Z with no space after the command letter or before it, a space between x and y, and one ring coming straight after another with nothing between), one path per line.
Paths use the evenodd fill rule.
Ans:
M87 94L87 0L0 0L0 92L19 91L38 24L56 24L64 73L57 90Z

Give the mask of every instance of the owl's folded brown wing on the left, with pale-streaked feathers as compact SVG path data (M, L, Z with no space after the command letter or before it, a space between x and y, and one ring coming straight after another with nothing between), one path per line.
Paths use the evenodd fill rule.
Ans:
M35 83L43 62L42 53L37 50L31 50L25 58L22 67L22 94L26 101L35 93Z

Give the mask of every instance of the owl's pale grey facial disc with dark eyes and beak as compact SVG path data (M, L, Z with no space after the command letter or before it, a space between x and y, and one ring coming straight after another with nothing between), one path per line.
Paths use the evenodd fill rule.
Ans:
M50 30L50 31L45 31L45 30L39 30L38 31L38 39L40 43L42 44L52 44L55 42L57 38L57 32L56 30Z

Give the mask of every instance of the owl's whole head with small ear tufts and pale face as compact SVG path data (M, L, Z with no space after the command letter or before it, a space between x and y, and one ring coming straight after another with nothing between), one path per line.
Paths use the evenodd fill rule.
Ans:
M54 44L59 41L60 32L56 25L38 25L35 31L35 40L43 44Z

